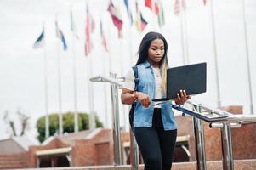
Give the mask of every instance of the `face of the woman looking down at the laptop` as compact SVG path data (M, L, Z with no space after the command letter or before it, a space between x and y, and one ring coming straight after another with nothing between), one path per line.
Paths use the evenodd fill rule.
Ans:
M164 43L162 39L157 38L151 42L148 51L148 60L152 66L160 66L160 61L162 60L164 54Z

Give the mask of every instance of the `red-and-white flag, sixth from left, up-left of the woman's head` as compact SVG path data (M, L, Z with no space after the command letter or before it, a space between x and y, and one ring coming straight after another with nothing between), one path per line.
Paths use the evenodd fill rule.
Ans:
M111 1L107 10L111 14L113 24L117 27L118 37L122 37L122 17L120 13L117 12L117 8L115 8Z

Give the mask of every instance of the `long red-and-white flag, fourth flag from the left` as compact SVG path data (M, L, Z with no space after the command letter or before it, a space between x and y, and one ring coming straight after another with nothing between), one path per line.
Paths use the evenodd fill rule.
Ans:
M86 21L85 21L85 45L84 52L88 56L94 48L93 42L91 40L91 33L94 32L95 22L91 14L89 13L88 4L86 4Z

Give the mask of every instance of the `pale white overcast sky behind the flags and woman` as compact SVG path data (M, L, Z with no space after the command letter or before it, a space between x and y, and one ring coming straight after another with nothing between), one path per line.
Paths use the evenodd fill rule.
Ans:
M246 38L243 25L242 0L214 0L214 36L216 58L218 59L219 92L221 105L242 105L244 114L250 114L248 72L251 71L253 109L256 110L256 2L245 1L247 21L247 47L250 64L247 65ZM30 134L36 137L36 122L45 115L44 70L43 62L48 59L48 112L59 112L60 90L58 85L58 64L61 74L62 111L74 111L74 72L73 59L76 60L77 111L94 110L105 127L111 127L110 85L100 82L88 82L90 77L108 76L109 71L123 77L137 59L137 50L141 38L148 31L159 31L168 41L168 61L171 67L207 62L207 92L192 98L196 103L217 106L216 65L213 48L213 22L210 2L203 5L202 0L190 0L186 3L185 13L174 14L174 0L162 0L165 25L159 27L157 19L144 0L138 0L148 25L139 32L130 26L128 14L122 0L113 0L119 6L123 26L122 38L117 37L117 28L113 26L107 12L108 0L2 0L0 1L0 139L8 138L9 127L3 116L9 112L9 119L16 122L16 111L30 116ZM135 17L134 0L130 0ZM85 41L85 3L95 21L92 34L94 49L88 57L84 56ZM73 11L77 26L75 39L70 30L70 10ZM57 18L60 29L65 35L67 51L61 48L60 40L55 37L54 20ZM100 20L105 31L109 53L100 43ZM181 21L182 20L182 21ZM45 48L33 49L33 43L45 27ZM184 37L187 49L183 61L181 23L186 28ZM44 53L44 49L45 52ZM60 57L60 62L59 62ZM88 71L91 68L91 71ZM89 86L94 105L89 105ZM120 94L120 91L119 91ZM119 101L121 127L128 129L128 106ZM106 113L106 114L105 114Z

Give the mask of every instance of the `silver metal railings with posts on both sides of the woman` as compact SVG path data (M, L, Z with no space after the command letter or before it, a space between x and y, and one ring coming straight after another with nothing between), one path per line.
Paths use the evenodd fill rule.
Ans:
M122 88L122 79L117 78L117 74L110 77L98 76L90 79L92 82L111 83L111 107L112 107L112 130L114 143L114 165L122 164L120 145L120 122L118 108L118 88ZM196 169L206 170L206 156L204 148L203 122L208 122L211 128L221 129L221 144L223 156L223 169L234 170L234 160L232 155L231 128L241 127L244 123L256 122L253 115L233 115L230 112L211 108L207 105L186 102L185 107L173 105L175 110L193 117L194 133L196 140ZM130 130L130 154L133 170L139 170L139 148Z

